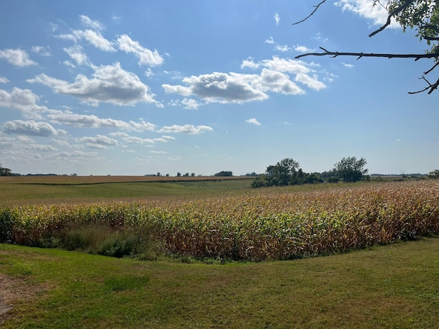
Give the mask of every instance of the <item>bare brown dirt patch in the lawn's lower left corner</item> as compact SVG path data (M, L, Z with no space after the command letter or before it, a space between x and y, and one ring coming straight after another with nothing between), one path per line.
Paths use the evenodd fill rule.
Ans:
M23 279L6 276L0 273L0 325L8 318L14 303L19 300L30 300L42 287L29 284Z

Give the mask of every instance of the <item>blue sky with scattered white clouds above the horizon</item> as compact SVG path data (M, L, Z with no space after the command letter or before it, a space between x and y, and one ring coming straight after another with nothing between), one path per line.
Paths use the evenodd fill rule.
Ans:
M369 173L439 167L432 60L372 0L0 0L0 164L14 173ZM381 24L381 25L380 25ZM431 81L436 82L433 71Z

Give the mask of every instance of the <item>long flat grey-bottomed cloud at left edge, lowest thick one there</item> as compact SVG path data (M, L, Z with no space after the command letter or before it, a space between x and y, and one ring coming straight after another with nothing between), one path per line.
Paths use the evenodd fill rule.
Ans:
M6 121L3 130L7 134L23 134L29 136L49 137L66 134L65 130L56 130L47 122L31 121Z

